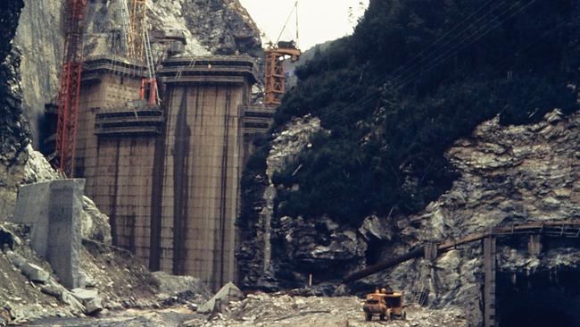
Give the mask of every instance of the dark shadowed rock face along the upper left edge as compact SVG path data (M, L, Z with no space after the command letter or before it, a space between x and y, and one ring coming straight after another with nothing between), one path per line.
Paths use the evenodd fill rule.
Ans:
M11 166L29 143L29 127L21 110L20 53L12 38L22 8L21 0L4 1L0 7L0 164ZM0 167L0 169L5 169Z

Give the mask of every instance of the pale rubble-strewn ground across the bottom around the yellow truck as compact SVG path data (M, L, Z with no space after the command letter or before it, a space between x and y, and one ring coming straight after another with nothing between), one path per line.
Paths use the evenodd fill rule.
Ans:
M420 306L406 308L405 321L366 322L363 301L356 297L292 297L285 294L256 293L231 302L220 314L195 314L191 306L158 310L128 310L97 318L49 319L31 326L467 326L457 309L430 310Z

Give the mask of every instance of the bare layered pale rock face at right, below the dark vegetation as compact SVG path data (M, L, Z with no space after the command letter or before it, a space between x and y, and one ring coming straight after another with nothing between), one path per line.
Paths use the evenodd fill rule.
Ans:
M502 127L497 118L483 123L471 138L448 151L460 179L424 213L400 222L402 234L419 240L457 239L512 222L577 218L579 130L579 113L564 118L559 111L532 125ZM580 264L576 248L564 245L534 256L527 251L526 239L523 243L523 247L498 244L499 272L515 279L576 269ZM477 325L482 321L482 255L477 242L444 254L433 265L418 259L368 281L389 281L394 289L409 294L425 284L430 306L461 306L469 322Z

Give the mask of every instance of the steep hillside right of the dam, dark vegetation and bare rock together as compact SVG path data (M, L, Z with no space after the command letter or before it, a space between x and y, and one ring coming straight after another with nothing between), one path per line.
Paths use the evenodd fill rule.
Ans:
M296 70L272 135L256 142L239 220L248 232L238 258L253 267L241 266L245 286L299 287L312 276L338 295L389 282L409 299L427 288L429 306L462 306L480 323L479 243L337 286L426 240L578 216L579 9L371 1L352 37ZM499 246L503 289L530 281L513 276L576 269L569 245L533 258L526 241L513 243Z

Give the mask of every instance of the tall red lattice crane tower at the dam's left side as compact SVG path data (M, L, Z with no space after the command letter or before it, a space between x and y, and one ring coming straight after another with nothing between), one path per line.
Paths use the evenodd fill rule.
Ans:
M87 0L67 0L65 6L64 59L58 99L56 155L59 171L67 176L74 173L86 9Z

